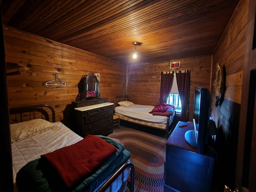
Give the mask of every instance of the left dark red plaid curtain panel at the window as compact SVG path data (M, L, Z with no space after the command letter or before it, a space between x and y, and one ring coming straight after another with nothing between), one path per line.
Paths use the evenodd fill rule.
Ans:
M161 84L160 84L160 103L166 103L167 98L170 94L170 91L172 89L172 82L173 82L173 76L174 76L174 71L172 73L166 72L161 72Z

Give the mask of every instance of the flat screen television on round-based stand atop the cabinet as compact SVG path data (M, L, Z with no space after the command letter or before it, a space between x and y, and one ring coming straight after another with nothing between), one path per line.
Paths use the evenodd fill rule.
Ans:
M186 132L187 142L198 149L199 154L204 153L208 144L208 126L210 121L210 92L206 88L195 88L194 95L194 130ZM196 138L197 137L197 138Z

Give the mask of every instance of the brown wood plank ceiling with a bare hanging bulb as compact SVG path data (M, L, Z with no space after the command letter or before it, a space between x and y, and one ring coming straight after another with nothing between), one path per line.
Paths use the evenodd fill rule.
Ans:
M1 0L6 26L128 64L212 54L239 0Z

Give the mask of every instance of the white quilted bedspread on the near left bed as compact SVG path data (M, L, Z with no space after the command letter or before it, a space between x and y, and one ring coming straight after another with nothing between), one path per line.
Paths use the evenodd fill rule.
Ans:
M28 162L40 158L42 154L69 146L83 139L61 122L55 122L54 125L46 132L12 143L14 183L17 172ZM14 187L16 186L14 185Z

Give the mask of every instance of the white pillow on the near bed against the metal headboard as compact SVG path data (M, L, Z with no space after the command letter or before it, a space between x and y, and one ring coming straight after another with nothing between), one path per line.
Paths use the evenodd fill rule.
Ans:
M53 123L44 119L33 119L20 123L10 124L11 142L14 143L41 132L50 130L53 126Z

